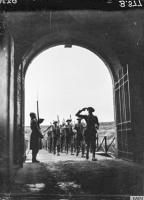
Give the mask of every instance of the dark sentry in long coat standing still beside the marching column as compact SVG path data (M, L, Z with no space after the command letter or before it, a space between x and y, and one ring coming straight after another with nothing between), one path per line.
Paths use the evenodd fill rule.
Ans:
M30 149L32 149L32 162L39 162L36 160L37 153L40 149L41 144L41 138L43 138L43 135L40 131L38 121L36 119L35 113L30 113L30 127L32 130L31 138L30 138Z

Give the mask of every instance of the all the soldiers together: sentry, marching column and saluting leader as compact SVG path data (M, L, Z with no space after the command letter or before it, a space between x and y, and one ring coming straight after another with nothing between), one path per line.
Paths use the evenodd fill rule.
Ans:
M86 111L87 115L81 114ZM40 149L39 141L43 138L43 147L46 148L49 153L57 154L65 152L71 155L85 156L89 159L89 152L92 152L92 160L95 159L96 150L96 136L97 129L99 128L99 122L97 116L93 115L94 108L88 107L79 110L76 113L77 123L73 124L71 119L67 119L66 123L60 124L59 121L54 121L52 125L44 131L45 136L41 133L38 120L35 113L30 113L31 117L31 141L30 148L32 149L32 162L39 162L36 159L38 150ZM85 123L82 120L85 120ZM45 142L44 142L45 141Z

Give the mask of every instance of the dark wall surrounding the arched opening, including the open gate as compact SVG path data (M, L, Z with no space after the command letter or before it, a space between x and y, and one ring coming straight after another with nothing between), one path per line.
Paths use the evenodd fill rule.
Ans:
M0 144L4 152L0 164L6 173L23 163L26 69L38 53L58 44L87 48L110 68L114 80L118 156L138 162L144 160L142 16L142 10L125 14L89 10L3 13L2 24L7 26L0 33L3 105ZM7 147L11 150L6 151Z

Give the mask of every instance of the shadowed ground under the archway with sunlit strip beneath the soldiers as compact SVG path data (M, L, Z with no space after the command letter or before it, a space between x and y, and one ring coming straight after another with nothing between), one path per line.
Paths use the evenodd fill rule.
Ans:
M134 163L97 155L97 161L80 156L61 156L41 150L40 163L31 163L29 153L17 172L11 192L25 199L112 199L144 195L144 168ZM86 198L87 197L87 198ZM89 198L88 198L89 197ZM102 198L101 198L102 197Z

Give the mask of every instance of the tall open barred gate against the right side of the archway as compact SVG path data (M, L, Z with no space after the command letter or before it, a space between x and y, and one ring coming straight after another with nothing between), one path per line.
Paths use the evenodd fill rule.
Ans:
M118 71L114 85L117 127L118 157L133 160L133 134L131 126L131 104L128 65Z

